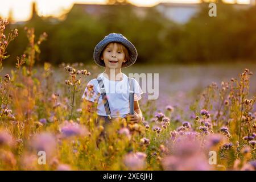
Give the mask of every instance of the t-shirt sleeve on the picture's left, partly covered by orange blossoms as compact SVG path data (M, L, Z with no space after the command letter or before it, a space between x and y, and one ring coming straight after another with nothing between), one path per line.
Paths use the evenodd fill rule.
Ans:
M97 102L99 95L97 80L90 80L82 94L82 98L88 101Z

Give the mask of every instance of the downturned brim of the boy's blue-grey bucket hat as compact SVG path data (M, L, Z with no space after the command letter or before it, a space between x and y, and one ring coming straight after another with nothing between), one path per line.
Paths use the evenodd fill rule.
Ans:
M135 61L137 60L138 53L134 45L127 39L115 37L101 40L101 42L99 42L94 48L93 59L97 65L105 67L105 63L101 60L100 56L104 48L111 42L121 43L129 51L129 60L122 64L122 68L130 67L130 65L135 63Z

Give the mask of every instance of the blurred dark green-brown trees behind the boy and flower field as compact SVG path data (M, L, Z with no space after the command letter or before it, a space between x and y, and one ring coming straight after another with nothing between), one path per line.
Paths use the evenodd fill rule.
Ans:
M115 4L115 5L113 5ZM97 15L73 9L62 19L40 17L34 9L31 19L23 24L10 23L7 29L18 28L19 36L9 46L11 56L5 64L25 50L28 41L24 27L35 27L35 35L47 32L37 64L82 62L93 63L93 49L104 36L118 32L137 48L138 62L148 64L222 63L256 59L256 6L237 10L218 3L217 17L208 15L209 3L201 3L200 13L189 22L178 24L165 18L154 7L137 16L126 1L109 1L108 11Z

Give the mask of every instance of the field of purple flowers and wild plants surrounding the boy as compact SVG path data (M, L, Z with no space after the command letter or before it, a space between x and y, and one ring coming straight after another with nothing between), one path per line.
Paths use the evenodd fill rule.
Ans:
M25 29L28 47L16 66L5 69L7 46L18 36L5 32L7 24L0 20L0 170L256 169L255 65L217 83L200 75L209 84L193 90L189 77L183 90L192 96L165 74L159 99L141 101L142 123L96 124L81 96L100 70L36 67L47 34L36 38L33 28Z

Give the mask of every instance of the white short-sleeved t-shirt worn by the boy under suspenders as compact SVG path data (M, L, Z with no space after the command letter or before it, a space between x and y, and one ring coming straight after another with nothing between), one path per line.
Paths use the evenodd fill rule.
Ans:
M125 117L126 114L130 113L129 105L129 82L128 77L123 74L123 79L121 81L112 81L104 77L101 73L100 77L104 83L106 90L106 96L108 98L109 107L111 111L111 116L113 118ZM137 80L134 80L134 101L141 100L142 89L139 86ZM92 90L88 90L88 86L93 85ZM96 78L90 80L85 88L82 98L88 101L98 102L97 113L98 115L106 116L106 111L104 104L102 102L102 97L100 94L100 86Z

